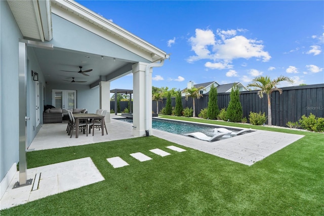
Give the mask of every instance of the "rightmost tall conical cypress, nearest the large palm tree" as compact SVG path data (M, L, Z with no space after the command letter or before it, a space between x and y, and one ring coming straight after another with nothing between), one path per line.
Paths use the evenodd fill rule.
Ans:
M226 110L226 119L229 119L231 122L241 122L243 110L241 102L239 101L239 90L236 85L232 87L229 96L230 100Z

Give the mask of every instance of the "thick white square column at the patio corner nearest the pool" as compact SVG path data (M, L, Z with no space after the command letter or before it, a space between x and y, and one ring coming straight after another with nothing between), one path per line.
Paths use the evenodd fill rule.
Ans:
M145 67L138 62L133 68L133 135L145 136Z

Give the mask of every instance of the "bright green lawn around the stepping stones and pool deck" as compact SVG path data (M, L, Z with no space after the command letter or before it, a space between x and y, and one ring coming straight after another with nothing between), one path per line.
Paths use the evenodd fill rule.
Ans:
M154 136L28 152L28 168L91 157L105 180L5 209L0 214L324 215L323 133L199 121L305 136L252 166ZM187 151L173 152L166 148L170 145ZM149 152L154 148L172 154L160 157ZM153 160L139 162L129 155L135 152ZM115 156L130 166L112 168L106 158Z

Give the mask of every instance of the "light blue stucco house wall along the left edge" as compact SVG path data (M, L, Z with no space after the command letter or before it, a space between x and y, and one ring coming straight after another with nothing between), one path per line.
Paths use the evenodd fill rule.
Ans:
M0 181L18 161L18 39L22 34L6 1L0 1ZM10 115L8 115L10 114ZM3 188L0 187L2 195Z

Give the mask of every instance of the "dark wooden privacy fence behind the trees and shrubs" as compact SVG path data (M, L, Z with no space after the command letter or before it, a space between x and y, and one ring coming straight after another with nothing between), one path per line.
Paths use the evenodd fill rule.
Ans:
M324 84L293 86L281 88L282 94L275 91L271 94L272 125L287 127L286 123L298 121L302 115L309 116L310 113L317 117L324 117ZM240 92L240 102L243 109L243 117L249 119L250 112L265 113L268 115L267 96L259 98L258 91ZM228 106L230 93L218 94L218 107L221 110ZM196 116L200 110L208 106L208 93L199 100L195 100ZM165 107L167 99L158 101L158 112ZM175 98L171 98L171 105L176 106ZM192 107L192 98L182 97L182 106ZM110 101L110 107L113 109L114 101ZM128 101L120 101L120 112L128 107ZM156 101L152 101L152 111L156 113Z

